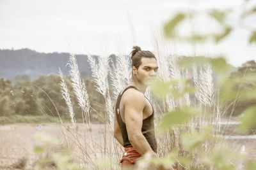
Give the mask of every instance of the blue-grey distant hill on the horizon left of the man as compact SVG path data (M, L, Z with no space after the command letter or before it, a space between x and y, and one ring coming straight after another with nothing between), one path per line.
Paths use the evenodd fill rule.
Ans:
M40 74L58 74L59 67L63 74L68 74L68 58L68 53L39 53L28 48L0 50L0 77L13 80L17 75L26 74L33 80ZM76 55L76 59L81 76L90 78L92 72L87 55Z

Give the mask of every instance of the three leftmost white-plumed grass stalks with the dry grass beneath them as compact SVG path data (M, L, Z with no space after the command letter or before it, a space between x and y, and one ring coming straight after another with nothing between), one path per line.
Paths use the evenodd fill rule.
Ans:
M62 96L68 106L68 115L74 128L70 129L70 134L65 134L73 145L76 146L76 152L74 152L74 159L79 161L79 165L85 169L104 169L99 166L97 160L102 158L111 157L114 158L111 162L111 169L118 169L118 160L120 159L120 153L122 153L121 147L116 143L113 138L113 102L109 92L108 74L109 74L109 59L108 57L100 57L95 59L93 56L88 56L90 67L92 68L93 78L95 80L95 89L102 94L105 99L105 123L99 129L100 139L95 138L92 132L92 125L90 122L90 110L93 109L90 106L90 100L86 91L83 80L78 70L76 56L70 55L68 65L70 66L70 76L72 80L72 88L75 91L77 101L81 108L81 114L85 121L83 125L87 126L88 131L83 134L79 132L76 123L75 113L72 109L72 101L70 100L68 88L65 84L65 80L60 71L60 85Z

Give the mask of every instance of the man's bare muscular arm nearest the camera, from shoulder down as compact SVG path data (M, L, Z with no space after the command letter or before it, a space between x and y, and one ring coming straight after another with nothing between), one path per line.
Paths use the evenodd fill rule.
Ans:
M143 123L143 109L145 107L145 98L139 92L131 92L125 101L125 125L129 141L133 148L144 155L149 152L156 155L150 147L147 139L141 132Z

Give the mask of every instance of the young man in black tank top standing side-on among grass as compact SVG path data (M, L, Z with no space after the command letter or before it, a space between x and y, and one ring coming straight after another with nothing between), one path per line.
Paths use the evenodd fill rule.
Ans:
M152 52L134 46L131 52L132 80L116 99L114 136L125 147L122 169L134 168L138 158L157 157L154 109L145 97L148 81L157 75L157 60Z

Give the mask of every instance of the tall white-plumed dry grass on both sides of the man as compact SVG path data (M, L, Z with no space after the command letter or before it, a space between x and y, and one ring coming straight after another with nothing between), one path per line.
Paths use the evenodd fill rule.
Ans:
M150 89L148 88L145 96L150 99L154 110L156 111L156 124L157 121L166 112L175 110L182 106L192 106L201 108L202 115L200 117L193 117L192 120L185 125L173 127L167 134L157 134L157 153L160 157L168 155L168 153L177 150L179 157L189 157L193 161L188 166L179 162L177 159L177 167L179 169L189 169L196 167L197 169L205 169L204 165L200 161L204 157L204 153L209 153L213 148L218 146L218 141L207 139L204 142L202 148L197 148L196 152L186 152L184 146L182 146L182 134L186 132L204 132L205 125L212 127L212 134L218 135L220 131L220 115L221 110L218 104L218 91L214 90L214 81L212 76L212 69L209 65L202 65L200 67L193 67L191 73L188 69L182 68L178 65L178 57L172 55L167 47L161 48L161 42L159 39L155 39L154 53L157 57L159 64L159 77L163 81L177 80L175 84L176 90L183 90L183 80L188 80L192 76L193 84L195 85L195 98L191 101L191 97L188 93L183 97L175 99L174 97L166 96L163 99L156 100L152 97ZM167 49L167 50L166 50ZM95 81L95 89L105 99L105 122L102 125L102 141L93 138L92 130L88 131L88 134L79 134L76 129L72 131L72 136L69 138L75 138L74 143L77 145L76 156L79 158L80 166L89 169L104 169L100 167L95 161L100 157L111 159L111 169L120 169L118 161L122 156L122 146L120 146L113 138L113 118L114 118L114 104L119 92L124 89L131 80L131 62L127 55L116 56L115 61L110 60L108 56L100 56L95 58L92 55L88 55L88 62L92 69L92 76ZM109 66L112 66L111 69ZM72 77L72 87L74 88L79 101L79 106L82 109L83 118L86 121L83 124L88 125L88 129L91 129L90 124L90 100L86 92L84 82L80 78L78 70L76 56L70 55L70 75ZM74 111L72 110L72 103L70 97L68 97L67 86L65 85L64 78L60 71L61 88L63 98L65 99L68 111L70 112L70 120L74 126L76 126L76 118ZM109 80L110 78L110 80ZM192 81L191 80L191 81ZM111 84L109 84L111 83ZM111 87L113 91L111 91ZM88 136L89 135L89 136ZM212 168L212 167L211 167Z

